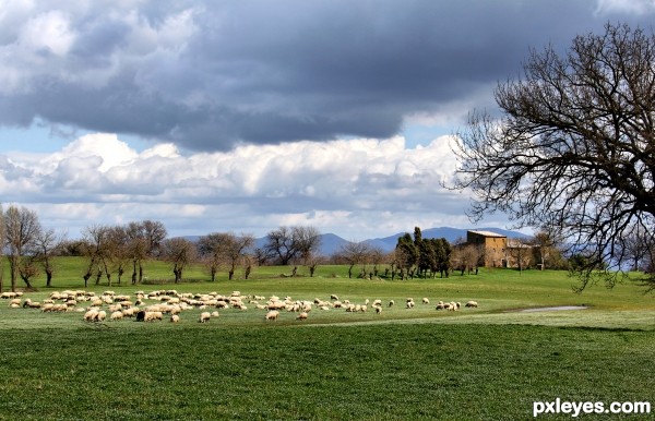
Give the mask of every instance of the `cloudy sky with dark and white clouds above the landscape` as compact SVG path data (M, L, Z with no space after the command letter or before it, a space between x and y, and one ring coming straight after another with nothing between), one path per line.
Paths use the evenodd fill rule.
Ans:
M0 202L80 237L471 228L453 136L653 0L0 0ZM477 226L512 228L504 215Z

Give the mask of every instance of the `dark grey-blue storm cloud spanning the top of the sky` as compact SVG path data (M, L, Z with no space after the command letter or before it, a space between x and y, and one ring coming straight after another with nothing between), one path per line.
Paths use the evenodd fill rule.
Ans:
M490 96L531 46L565 48L627 19L570 0L120 4L34 10L15 36L3 29L0 53L15 60L2 70L16 75L0 88L0 122L39 118L198 151L386 137L407 116L475 100L480 87ZM34 27L58 36L35 40Z

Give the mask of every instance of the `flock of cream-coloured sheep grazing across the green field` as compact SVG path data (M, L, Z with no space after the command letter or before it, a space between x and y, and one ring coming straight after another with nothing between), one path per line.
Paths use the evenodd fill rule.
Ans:
M41 312L80 312L84 313L86 322L120 321L123 318L135 318L138 322L163 321L165 317L172 323L180 321L182 312L188 310L200 310L200 323L207 323L218 317L218 310L236 309L247 311L254 308L265 312L264 320L277 321L282 312L297 313L298 321L309 318L309 313L318 309L320 311L342 310L349 313L374 311L382 313L384 306L395 305L394 300L385 304L382 300L370 301L366 299L362 303L340 300L338 296L331 294L330 300L315 298L313 301L294 300L290 297L279 298L276 296L245 296L240 291L233 291L229 296L217 292L210 293L178 293L176 290L136 291L133 296L117 294L115 291L104 291L102 294L83 290L55 291L43 300L33 301L23 298L22 292L2 292L0 299L9 300L10 308L14 309L38 309ZM429 305L430 300L422 298L421 305ZM416 303L413 298L405 300L406 309L414 309ZM460 302L439 301L436 310L457 311ZM477 308L477 301L468 301L466 308Z

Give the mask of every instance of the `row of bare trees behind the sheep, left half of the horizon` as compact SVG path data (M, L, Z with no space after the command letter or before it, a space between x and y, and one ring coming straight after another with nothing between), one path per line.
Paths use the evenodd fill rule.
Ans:
M41 272L46 286L52 285L55 265L52 257L76 255L85 257L84 287L93 279L98 285L121 284L130 275L132 284L144 280L144 263L159 260L170 263L175 281L182 279L184 269L192 263L203 263L212 280L221 268L233 279L237 267L243 268L248 278L252 267L261 264L303 264L315 269L320 246L320 232L313 227L279 227L269 232L266 243L255 248L252 234L212 232L198 241L187 238L167 238L160 221L143 220L127 225L92 225L82 230L82 238L68 240L66 233L41 227L36 212L11 205L0 207L0 257L5 253L10 265L11 290L22 279L32 288L32 279ZM0 258L0 264L3 262ZM0 290L3 278L0 266Z

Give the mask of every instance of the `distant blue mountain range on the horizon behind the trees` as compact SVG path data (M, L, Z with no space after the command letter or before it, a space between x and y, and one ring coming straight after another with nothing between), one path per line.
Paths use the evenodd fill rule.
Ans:
M463 229L463 228L451 228L451 227L440 227L440 228L430 228L430 229L421 229L420 232L422 234L422 238L444 238L446 239L449 242L455 242L456 240L461 239L461 238L466 238L466 231L468 230L474 230L474 231L491 231L491 232L496 232L496 233L500 233L502 236L505 236L508 238L525 238L527 236L525 236L522 232L517 232L517 231L509 231L509 230L504 230L504 229L499 229L499 228L471 228L471 229ZM412 230L409 232L412 236L414 236L414 230ZM397 242L398 242L398 238L404 236L405 232L398 232L395 233L393 236L389 236L389 237L384 237L384 238L376 238L376 239L369 239L369 240L364 240L362 242L366 242L372 246L379 248L384 252L390 252L393 249L395 249ZM348 240L344 240L343 238L334 234L334 233L323 233L321 234L321 249L320 252L322 255L324 256L330 256L334 253L336 253L337 251L341 250L341 248L344 244L347 244L349 241ZM258 238L255 239L255 248L261 248L264 246L264 244L266 243L266 238L262 237L262 238Z

